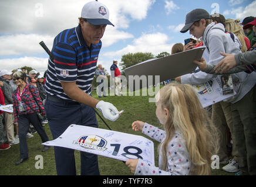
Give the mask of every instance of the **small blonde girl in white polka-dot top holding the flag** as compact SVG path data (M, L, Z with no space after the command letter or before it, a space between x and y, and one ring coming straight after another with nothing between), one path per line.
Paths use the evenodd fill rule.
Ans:
M214 133L194 88L166 85L156 101L156 116L164 130L140 121L132 128L160 141L159 167L141 159L129 159L126 165L134 175L210 175Z

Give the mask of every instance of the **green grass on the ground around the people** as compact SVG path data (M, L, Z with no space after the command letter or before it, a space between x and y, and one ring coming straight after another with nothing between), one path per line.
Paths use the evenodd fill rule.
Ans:
M128 94L127 94L128 95ZM99 99L94 91L92 96ZM141 132L132 130L132 122L135 120L142 120L159 126L160 123L155 115L156 106L155 103L149 102L149 96L108 96L103 98L104 101L113 103L118 110L124 110L122 116L116 122L110 122L105 120L110 128L114 131L122 131L124 133L136 134L140 136ZM99 128L108 129L106 125L97 116ZM49 139L52 140L52 134L48 124L45 126L46 133ZM13 145L8 150L0 151L0 175L56 175L55 158L53 147L51 147L45 153L42 153L42 141L38 133L33 134L34 137L27 138L29 148L29 160L23 162L21 165L16 166L15 162L19 160L19 144ZM144 136L147 137L147 136ZM149 138L149 137L147 137ZM158 165L157 147L159 143L154 142L155 151L155 163ZM43 156L43 169L36 169L35 164L38 160L35 160L36 155ZM132 175L126 165L119 160L113 158L107 158L99 156L99 169L101 175ZM80 174L80 153L75 151L76 159L76 173ZM220 165L220 168L223 165ZM221 169L214 169L213 175L234 175L225 172Z

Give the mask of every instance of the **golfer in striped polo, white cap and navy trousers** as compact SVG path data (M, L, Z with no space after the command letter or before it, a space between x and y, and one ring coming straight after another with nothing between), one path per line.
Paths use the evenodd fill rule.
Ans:
M95 111L111 121L119 112L111 103L90 96L109 10L98 1L83 6L79 25L63 30L53 41L53 59L49 58L46 75L46 115L53 138L58 138L70 124L98 127ZM86 133L86 132L85 132ZM74 150L55 147L58 175L76 175ZM97 155L81 151L81 175L99 175Z

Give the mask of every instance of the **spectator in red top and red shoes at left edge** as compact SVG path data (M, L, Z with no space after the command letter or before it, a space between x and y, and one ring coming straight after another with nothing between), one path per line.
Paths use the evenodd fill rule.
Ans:
M2 86L4 86L4 79L0 77L0 105L5 105L4 94L1 88ZM5 143L3 119L3 112L2 110L0 110L0 151L7 150L8 148L11 147L9 144Z

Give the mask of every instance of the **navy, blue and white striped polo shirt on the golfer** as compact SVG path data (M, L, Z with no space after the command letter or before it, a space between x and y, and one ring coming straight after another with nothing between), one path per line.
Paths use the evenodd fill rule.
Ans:
M53 61L48 61L45 91L62 99L69 99L60 81L74 82L83 92L90 94L97 58L102 41L89 48L83 39L81 27L63 30L53 41ZM72 100L73 101L73 100Z

